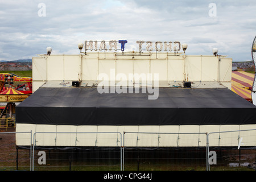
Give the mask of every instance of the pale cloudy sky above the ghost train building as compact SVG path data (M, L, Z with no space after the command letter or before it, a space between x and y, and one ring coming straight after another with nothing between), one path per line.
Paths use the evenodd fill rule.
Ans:
M255 1L0 0L0 60L46 53L77 54L85 40L187 43L187 55L251 60L256 35Z

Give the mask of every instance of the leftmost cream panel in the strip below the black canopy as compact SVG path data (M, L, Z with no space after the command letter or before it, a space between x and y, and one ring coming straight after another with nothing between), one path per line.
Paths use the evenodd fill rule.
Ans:
M23 124L16 123L16 145L17 146L29 146L33 144L34 133L36 130L36 125L33 124ZM19 133L19 132L31 132L32 131L32 139L30 133Z

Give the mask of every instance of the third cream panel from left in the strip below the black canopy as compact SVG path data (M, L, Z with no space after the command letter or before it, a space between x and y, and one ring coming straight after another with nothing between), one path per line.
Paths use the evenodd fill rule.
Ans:
M56 146L75 146L77 126L57 125ZM66 132L67 134L61 134ZM69 133L70 132L70 133Z

